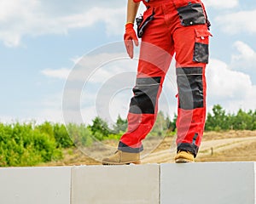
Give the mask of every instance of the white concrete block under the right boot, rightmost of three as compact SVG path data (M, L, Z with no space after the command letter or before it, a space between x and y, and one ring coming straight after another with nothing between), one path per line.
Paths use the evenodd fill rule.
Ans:
M161 204L254 204L254 162L161 164Z

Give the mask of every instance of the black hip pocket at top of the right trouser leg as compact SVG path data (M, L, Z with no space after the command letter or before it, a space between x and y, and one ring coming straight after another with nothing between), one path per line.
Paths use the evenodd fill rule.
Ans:
M189 3L187 6L177 8L182 26L206 24L207 19L201 3Z

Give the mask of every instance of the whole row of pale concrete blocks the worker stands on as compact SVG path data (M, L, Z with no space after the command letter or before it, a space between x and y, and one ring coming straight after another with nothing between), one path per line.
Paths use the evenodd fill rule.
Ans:
M0 168L0 204L256 204L256 162Z

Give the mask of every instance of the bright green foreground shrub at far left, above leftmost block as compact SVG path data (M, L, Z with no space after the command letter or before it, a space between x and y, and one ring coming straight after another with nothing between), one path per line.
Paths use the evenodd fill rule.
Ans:
M33 128L32 123L0 124L0 166L33 166L62 157L50 128ZM49 127L49 126L48 126ZM44 132L44 133L43 133Z

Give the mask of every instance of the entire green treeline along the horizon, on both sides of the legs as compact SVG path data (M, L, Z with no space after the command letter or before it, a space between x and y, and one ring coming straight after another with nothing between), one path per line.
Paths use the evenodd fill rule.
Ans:
M175 134L176 120L176 115L171 120L160 111L148 137ZM96 117L91 125L0 123L0 167L34 166L61 160L63 149L75 145L90 146L96 140L119 139L126 128L127 120L120 116L111 127L100 117ZM206 131L230 129L256 130L256 111L239 110L230 114L220 105L214 105L212 113L207 115Z

